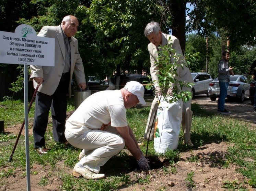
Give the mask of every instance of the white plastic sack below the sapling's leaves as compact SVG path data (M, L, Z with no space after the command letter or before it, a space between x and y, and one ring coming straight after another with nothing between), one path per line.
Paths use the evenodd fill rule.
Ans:
M154 128L155 152L165 153L178 147L181 121L182 100L170 104L161 98Z

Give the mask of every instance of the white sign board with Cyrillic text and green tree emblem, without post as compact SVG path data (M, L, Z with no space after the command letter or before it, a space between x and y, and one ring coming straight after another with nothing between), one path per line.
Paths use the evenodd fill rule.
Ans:
M55 39L37 37L30 25L0 31L0 63L54 66Z

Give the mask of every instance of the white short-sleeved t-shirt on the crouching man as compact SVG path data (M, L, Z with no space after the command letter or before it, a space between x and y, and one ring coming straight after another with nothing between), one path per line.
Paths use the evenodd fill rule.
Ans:
M80 135L110 122L113 127L128 125L120 90L101 91L86 98L66 121L66 130Z

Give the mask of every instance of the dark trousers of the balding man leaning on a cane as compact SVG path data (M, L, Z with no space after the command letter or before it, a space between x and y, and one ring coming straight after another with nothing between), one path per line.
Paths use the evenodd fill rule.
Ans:
M63 73L59 85L53 95L37 92L35 103L35 117L33 126L34 148L45 146L45 132L48 124L48 115L51 108L53 119L53 137L55 141L64 142L67 112L67 93L69 72Z

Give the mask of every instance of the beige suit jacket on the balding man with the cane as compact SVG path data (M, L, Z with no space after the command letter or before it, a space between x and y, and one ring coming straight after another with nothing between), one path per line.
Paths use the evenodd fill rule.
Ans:
M60 78L65 66L65 44L63 39L63 33L61 25L57 27L43 27L38 33L39 37L48 37L55 39L55 66L36 66L31 65L31 76L30 81L35 77L44 78L44 82L39 86L38 91L47 95L53 95L57 89ZM82 58L80 57L78 51L78 41L74 37L71 37L70 42L71 49L71 64L70 64L70 81L69 81L69 97L71 97L71 80L73 72L77 83L85 83L85 74ZM34 80L33 80L34 81ZM36 88L37 83L34 81L34 88Z

